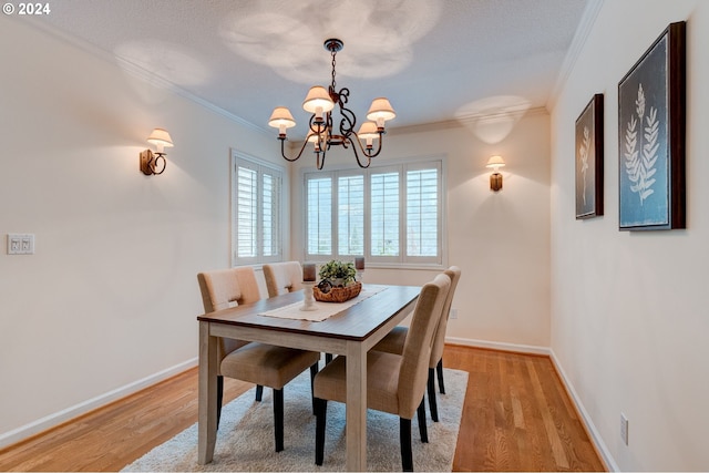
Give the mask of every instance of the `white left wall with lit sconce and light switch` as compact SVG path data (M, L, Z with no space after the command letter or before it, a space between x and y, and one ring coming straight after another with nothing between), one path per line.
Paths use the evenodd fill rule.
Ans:
M0 445L194 362L196 274L230 261L229 147L277 144L28 21L0 18ZM175 147L147 177L158 126Z

